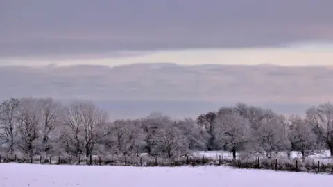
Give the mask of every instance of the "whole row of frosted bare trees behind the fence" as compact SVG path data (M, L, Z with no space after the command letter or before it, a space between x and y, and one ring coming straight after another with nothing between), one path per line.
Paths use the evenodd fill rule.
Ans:
M284 116L245 103L198 118L172 119L153 112L110 121L92 101L63 104L53 98L10 98L0 104L1 152L180 157L198 150L263 154L298 151L302 158L329 149L333 156L333 105L309 107L305 116Z

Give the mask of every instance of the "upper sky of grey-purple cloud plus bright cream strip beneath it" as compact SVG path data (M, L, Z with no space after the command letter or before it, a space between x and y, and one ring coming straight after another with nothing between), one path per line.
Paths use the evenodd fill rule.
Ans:
M330 65L332 0L3 0L0 64Z

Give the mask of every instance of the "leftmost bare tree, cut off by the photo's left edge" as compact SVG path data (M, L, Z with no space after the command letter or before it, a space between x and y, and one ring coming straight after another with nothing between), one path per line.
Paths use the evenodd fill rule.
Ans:
M10 98L0 104L0 139L6 144L8 153L13 154L18 132L19 100Z

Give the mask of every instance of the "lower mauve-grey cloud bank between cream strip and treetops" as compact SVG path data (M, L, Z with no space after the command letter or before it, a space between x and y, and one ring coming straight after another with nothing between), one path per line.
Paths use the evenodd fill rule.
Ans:
M153 110L194 116L239 101L299 113L309 105L333 100L332 73L325 66L1 66L0 99L88 99L118 117Z

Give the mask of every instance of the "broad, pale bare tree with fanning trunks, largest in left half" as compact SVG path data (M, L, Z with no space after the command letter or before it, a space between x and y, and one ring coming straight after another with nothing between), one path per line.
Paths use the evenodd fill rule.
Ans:
M69 130L66 134L69 151L76 155L92 154L94 145L110 132L107 119L107 112L92 102L76 100L66 107L63 123Z

